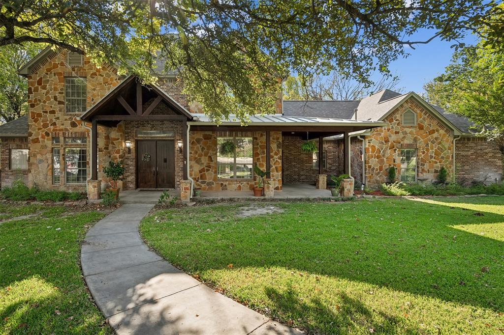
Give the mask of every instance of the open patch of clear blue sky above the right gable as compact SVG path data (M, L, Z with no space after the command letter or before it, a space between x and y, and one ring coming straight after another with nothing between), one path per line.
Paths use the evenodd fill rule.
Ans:
M416 40L427 39L429 34L423 31L415 35ZM412 38L413 39L413 38ZM474 44L475 37L468 36L465 39L467 44ZM390 65L392 73L401 79L398 88L404 92L424 92L423 85L432 80L435 76L443 73L445 67L450 63L454 42L442 41L439 38L428 44L415 46L415 49L407 49L410 55L407 58L400 58Z

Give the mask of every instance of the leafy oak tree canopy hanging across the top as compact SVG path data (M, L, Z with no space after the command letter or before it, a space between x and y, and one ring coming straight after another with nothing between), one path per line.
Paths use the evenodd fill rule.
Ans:
M16 0L2 2L0 47L25 42L83 50L152 80L154 58L178 70L214 118L273 111L279 78L328 74L368 81L439 37L457 44L482 27L501 44L501 8L469 0ZM432 36L415 39L420 29Z

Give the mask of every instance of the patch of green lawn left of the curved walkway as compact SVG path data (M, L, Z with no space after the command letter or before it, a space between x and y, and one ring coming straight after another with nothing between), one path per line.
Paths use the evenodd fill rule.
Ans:
M0 222L0 333L111 333L79 266L80 242L103 214L2 204L0 215L11 218Z

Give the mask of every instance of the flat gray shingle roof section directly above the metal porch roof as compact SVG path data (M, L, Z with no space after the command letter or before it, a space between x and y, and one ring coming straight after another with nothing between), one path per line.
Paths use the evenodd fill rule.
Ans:
M319 117L334 119L351 119L354 109L359 106L353 101L305 101L292 100L283 102L285 116Z

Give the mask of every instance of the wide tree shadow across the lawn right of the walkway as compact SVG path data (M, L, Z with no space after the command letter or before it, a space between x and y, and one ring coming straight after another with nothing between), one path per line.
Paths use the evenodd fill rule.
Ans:
M190 270L277 266L504 310L503 242L451 227L503 215L406 200L278 206L285 212L246 219L197 209L210 215L198 227L212 233L174 231L165 256Z

